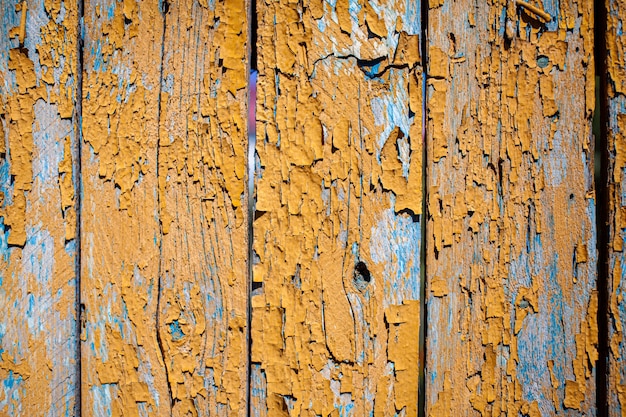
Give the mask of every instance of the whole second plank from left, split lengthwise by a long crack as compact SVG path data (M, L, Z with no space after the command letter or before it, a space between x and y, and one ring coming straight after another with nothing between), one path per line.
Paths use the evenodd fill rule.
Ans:
M89 413L245 413L246 13L85 4Z

